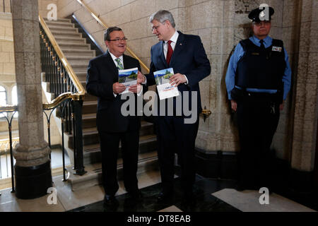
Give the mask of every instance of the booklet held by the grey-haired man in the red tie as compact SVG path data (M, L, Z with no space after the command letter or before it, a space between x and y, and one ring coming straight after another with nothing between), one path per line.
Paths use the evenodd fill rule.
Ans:
M179 95L178 88L175 85L170 84L169 78L173 75L174 72L172 68L155 71L153 73L160 100L177 97Z

